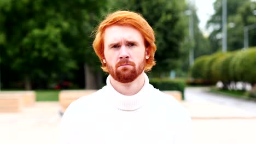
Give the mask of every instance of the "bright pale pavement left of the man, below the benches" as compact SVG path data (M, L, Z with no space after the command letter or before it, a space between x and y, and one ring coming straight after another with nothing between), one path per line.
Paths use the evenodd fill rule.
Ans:
M57 102L37 102L20 113L0 113L0 143L57 143L61 121L59 110Z

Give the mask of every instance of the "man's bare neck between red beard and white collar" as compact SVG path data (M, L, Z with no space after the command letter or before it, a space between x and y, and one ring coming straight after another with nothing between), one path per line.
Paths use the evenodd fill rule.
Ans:
M110 76L110 83L113 88L123 95L135 95L144 86L145 75L144 72L141 73L134 81L130 83L121 83L113 79Z

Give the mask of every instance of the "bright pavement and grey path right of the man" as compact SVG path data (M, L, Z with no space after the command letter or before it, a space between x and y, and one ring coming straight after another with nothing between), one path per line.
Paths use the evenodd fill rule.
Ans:
M255 144L256 103L186 88L183 105L190 112L194 143Z

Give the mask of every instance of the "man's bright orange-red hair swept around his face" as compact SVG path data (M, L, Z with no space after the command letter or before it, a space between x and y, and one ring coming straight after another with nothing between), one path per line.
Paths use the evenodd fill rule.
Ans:
M92 46L96 52L96 55L100 58L102 66L101 68L108 72L106 64L103 63L104 58L104 31L107 27L119 25L119 26L132 26L141 32L144 37L144 43L149 54L149 58L146 59L145 71L150 71L155 65L154 55L156 51L155 35L152 27L148 22L138 13L132 11L116 11L115 13L107 15L96 29L96 36Z

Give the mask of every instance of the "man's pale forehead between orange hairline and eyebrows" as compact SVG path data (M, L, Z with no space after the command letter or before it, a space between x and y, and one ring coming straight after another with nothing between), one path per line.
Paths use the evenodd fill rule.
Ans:
M143 36L132 26L109 26L104 31L104 43L118 42L120 40L133 40L143 43Z

